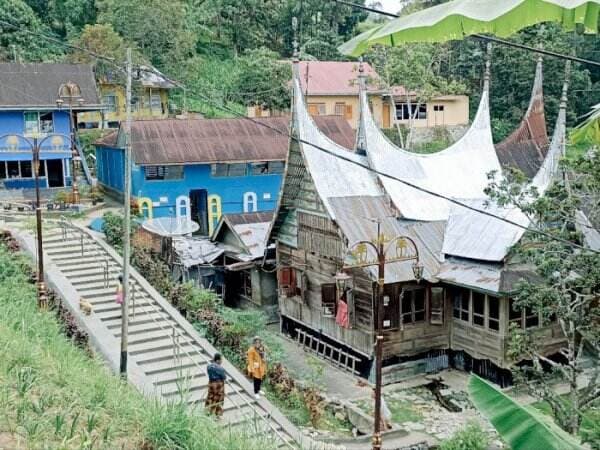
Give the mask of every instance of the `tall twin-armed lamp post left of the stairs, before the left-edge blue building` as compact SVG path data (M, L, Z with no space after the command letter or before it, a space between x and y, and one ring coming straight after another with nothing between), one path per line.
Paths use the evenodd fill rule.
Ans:
M44 136L42 139L38 139L35 135L33 138L27 138L20 134L4 134L0 136L0 141L6 139L14 145L16 150L19 149L19 141L25 142L31 149L33 155L33 174L35 179L35 220L37 229L37 252L38 252L38 269L37 269L37 295L38 295L38 306L40 308L46 308L48 306L48 295L46 293L46 285L44 283L44 249L42 243L42 207L40 200L40 149L44 142L50 138L53 139L53 143L56 142L55 138L67 139L71 141L69 136L64 134L52 133ZM46 174L48 176L48 174Z

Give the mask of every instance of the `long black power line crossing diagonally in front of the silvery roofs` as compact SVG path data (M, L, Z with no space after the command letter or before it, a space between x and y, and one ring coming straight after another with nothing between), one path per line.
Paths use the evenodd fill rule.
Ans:
M333 0L333 1L338 1L339 2L341 0ZM349 2L344 2L344 3L349 3ZM5 22L3 20L0 20L0 23L9 24L8 22ZM9 24L9 25L11 25L11 26L14 27L14 25L12 25L12 24ZM43 38L46 38L46 39L49 38L48 36L45 36L42 33L29 32L29 34L37 35L38 37L43 37ZM54 38L51 38L51 39L55 40L57 43L59 43L61 45L64 45L65 47L76 48L79 51L88 53L89 55L93 56L94 58L98 58L98 59L102 59L102 60L108 60L108 61L113 62L114 64L117 64L113 58L109 58L109 57L106 57L106 56L103 56L103 55L97 55L94 52L88 51L87 49L84 49L84 48L81 48L81 47L74 47L74 46L71 46L70 44L61 43L59 40L56 40ZM120 69L123 70L122 67L120 67ZM158 70L156 70L156 69L154 69L152 67L138 66L138 67L136 67L136 70L143 71L143 72L148 72L148 73L152 73L152 74L157 75L157 76L162 76L165 80L167 80L167 81L169 81L169 82L171 82L173 84L176 84L178 86L181 86L182 88L185 88L185 86L182 83L180 83L180 82L178 82L176 80L173 80L173 79L167 77L166 75L164 75L163 73L159 72ZM437 192L431 191L431 190L429 190L427 188L424 188L422 186L418 186L418 185L416 185L414 183L411 183L410 181L406 181L406 180L403 180L401 178L395 177L393 175L387 174L385 172L381 172L381 171L376 170L376 169L374 169L374 168L372 168L372 167L370 167L368 165L365 165L365 164L362 164L362 163L360 163L358 161L355 161L352 158L349 158L349 157L337 154L337 153L335 153L335 152L333 152L331 150L328 150L328 149L326 149L324 147L321 147L321 146L319 146L317 144L314 144L312 142L309 142L309 141L306 141L304 139L298 138L298 137L294 136L291 133L288 133L288 132L282 131L282 130L276 128L276 127L273 127L273 126L269 125L268 123L265 123L265 122L262 122L262 121L259 121L259 120L255 120L252 117L247 117L244 114L241 114L238 111L234 110L233 108L230 108L230 107L228 107L226 105L222 105L222 104L218 104L218 103L214 102L213 99L211 99L210 97L207 97L203 93L196 92L195 90L189 90L189 89L187 89L187 91L195 93L197 96L199 96L200 98L202 98L207 104L209 104L213 108L220 109L220 110L222 110L224 112L227 112L229 114L237 116L237 117L239 117L241 119L244 119L244 120L247 120L249 122L252 122L255 125L267 128L267 129L269 129L269 130L271 130L271 131L273 131L273 132L275 132L277 134L285 136L285 137L287 137L289 139L292 139L292 140L294 140L294 141L296 141L298 143L309 145L309 146L311 146L311 147L313 147L313 148L315 148L315 149L317 149L317 150L319 150L321 152L324 152L324 153L326 153L326 154L328 154L330 156L333 156L335 158L342 159L342 160L344 160L346 162L349 162L350 164L354 164L356 166L359 166L359 167L361 167L361 168L363 168L363 169L365 169L367 171L370 171L370 172L372 172L372 173L374 173L376 175L383 176L383 177L389 178L391 180L397 181L397 182L402 183L402 184L404 184L404 185L406 185L408 187L411 187L411 188L413 188L413 189L415 189L417 191L424 192L424 193L429 194L429 195L431 195L433 197L440 198L442 200L446 200L446 201L448 201L448 202L450 202L452 204L455 204L455 205L460 206L462 208L468 209L468 210L473 211L475 213L482 214L482 215L494 218L496 220L499 220L501 222L507 223L509 225L513 225L513 226L515 226L515 227L517 227L519 229L522 229L524 231L529 231L531 233L538 234L540 236L544 236L544 237L546 237L546 238L548 238L550 240L561 242L563 244L566 244L566 245L569 245L569 246L572 246L572 247L575 247L575 248L579 248L579 249L582 249L582 250L588 250L588 251L591 251L593 253L600 254L600 251L598 251L598 250L587 248L587 247L585 247L583 245L580 245L580 244L577 244L575 242L569 241L568 239L564 239L564 238L561 238L561 237L558 237L558 236L554 236L551 233L548 233L548 232L545 232L545 231L542 231L542 230L539 230L539 229L536 229L536 228L530 228L528 226L521 225L518 222L514 222L514 221L506 219L504 217L497 216L497 215L495 215L495 214L493 214L491 212L475 208L473 206L470 206L470 205L468 205L466 203L463 203L463 202L461 202L459 200L456 200L454 198L447 197L447 196L445 196L443 194L439 194ZM590 227L590 228L594 229L593 227Z

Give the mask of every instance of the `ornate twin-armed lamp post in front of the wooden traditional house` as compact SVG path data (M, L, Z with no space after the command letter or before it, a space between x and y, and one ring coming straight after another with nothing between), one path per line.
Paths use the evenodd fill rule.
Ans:
M349 258L348 258L349 257ZM414 261L413 275L417 282L423 278L423 265L419 261L419 250L408 236L396 236L386 240L381 232L381 222L377 222L377 239L374 242L360 241L348 250L342 272L335 276L338 292L344 292L350 276L349 269L378 267L376 297L376 340L375 340L375 425L373 430L373 450L381 450L381 374L383 366L383 288L385 285L385 264Z

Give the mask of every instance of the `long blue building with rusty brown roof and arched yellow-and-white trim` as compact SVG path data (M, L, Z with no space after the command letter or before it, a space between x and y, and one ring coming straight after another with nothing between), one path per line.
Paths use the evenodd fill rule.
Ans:
M342 116L317 117L331 139L351 148ZM287 134L289 117L257 119ZM222 214L272 211L288 149L286 134L246 119L139 120L132 124L132 194L147 218L188 217L211 235ZM122 195L124 135L96 142L98 182Z

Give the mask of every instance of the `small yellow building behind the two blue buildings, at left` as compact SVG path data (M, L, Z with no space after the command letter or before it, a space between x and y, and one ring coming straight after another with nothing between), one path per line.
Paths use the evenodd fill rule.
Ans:
M156 72L154 70L154 72ZM141 70L131 96L133 119L166 119L169 115L169 91L176 86L158 75ZM98 79L103 105L100 112L79 114L79 128L118 128L125 120L125 87L110 75Z

